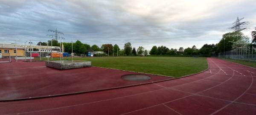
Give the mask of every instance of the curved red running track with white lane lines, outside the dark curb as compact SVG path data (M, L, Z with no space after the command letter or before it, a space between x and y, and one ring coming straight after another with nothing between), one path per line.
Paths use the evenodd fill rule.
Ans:
M24 101L0 102L19 115L255 115L256 69L208 58L210 69L186 78Z

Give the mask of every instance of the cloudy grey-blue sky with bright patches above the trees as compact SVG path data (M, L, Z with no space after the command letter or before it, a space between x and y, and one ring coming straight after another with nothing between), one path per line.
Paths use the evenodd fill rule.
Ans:
M58 29L64 42L201 48L233 31L237 17L256 27L255 6L254 0L0 0L0 42L44 42L54 34L48 29Z

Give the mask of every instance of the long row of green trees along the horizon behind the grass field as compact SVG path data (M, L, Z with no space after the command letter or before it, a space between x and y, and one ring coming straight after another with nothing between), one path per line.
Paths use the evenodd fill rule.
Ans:
M255 29L256 30L256 29ZM230 51L232 49L236 49L239 47L249 47L256 44L256 31L251 32L252 41L250 42L250 38L245 36L242 32L228 32L222 35L221 40L216 44L204 44L200 49L198 49L195 45L191 48L188 47L184 49L180 47L179 49L169 49L166 46L153 46L149 52L150 55L218 55L223 54L224 51ZM60 46L58 40L48 40L49 46ZM47 46L47 42L38 42L37 45ZM72 52L72 43L63 43L64 52L71 53ZM102 44L101 47L97 45L90 46L86 43L81 43L81 41L77 40L73 43L73 52L77 54L86 54L88 49L93 49L95 52L104 52L109 55L147 55L148 51L145 50L142 46L139 46L136 50L135 47L131 46L131 43L125 43L123 49L120 49L117 44L112 45Z

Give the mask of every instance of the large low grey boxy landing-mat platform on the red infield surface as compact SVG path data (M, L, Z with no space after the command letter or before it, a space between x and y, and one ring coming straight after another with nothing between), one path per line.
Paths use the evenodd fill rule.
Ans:
M57 61L46 61L45 65L47 67L55 68L55 69L73 69L73 68L81 68L81 67L90 67L90 61L84 60L57 60Z

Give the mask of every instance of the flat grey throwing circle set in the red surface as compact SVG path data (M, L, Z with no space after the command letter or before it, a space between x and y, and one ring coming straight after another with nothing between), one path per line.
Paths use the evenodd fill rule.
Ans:
M129 75L123 75L122 79L132 80L132 81L143 81L143 80L150 80L151 78L147 75L129 74Z

